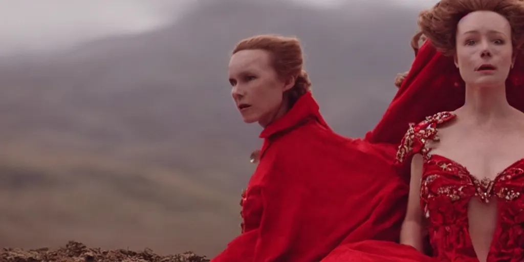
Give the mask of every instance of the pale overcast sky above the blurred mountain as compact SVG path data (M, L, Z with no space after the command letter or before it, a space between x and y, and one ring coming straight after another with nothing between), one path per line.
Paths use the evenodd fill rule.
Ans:
M195 0L0 0L0 54L46 50L172 23ZM436 0L292 0L333 8L344 1L430 7Z

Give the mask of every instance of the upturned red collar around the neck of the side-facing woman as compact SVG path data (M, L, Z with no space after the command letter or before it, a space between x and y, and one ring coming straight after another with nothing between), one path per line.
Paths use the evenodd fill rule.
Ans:
M271 138L299 126L308 118L315 118L321 125L329 128L320 115L319 104L316 103L311 92L303 94L285 115L264 128L259 137Z

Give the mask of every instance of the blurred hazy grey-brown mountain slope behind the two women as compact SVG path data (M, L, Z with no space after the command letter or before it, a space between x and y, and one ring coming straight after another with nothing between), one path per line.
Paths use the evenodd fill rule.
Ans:
M0 246L214 255L239 233L260 128L227 83L234 44L298 36L326 121L373 128L409 68L418 10L202 1L176 24L0 61Z

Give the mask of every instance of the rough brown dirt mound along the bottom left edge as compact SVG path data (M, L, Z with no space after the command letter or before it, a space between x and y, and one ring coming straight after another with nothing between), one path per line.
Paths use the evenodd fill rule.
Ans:
M23 250L4 248L0 251L0 261L13 262L209 262L205 256L192 252L179 255L160 256L146 248L143 252L125 249L102 250L88 248L82 243L70 241L59 249L40 248Z

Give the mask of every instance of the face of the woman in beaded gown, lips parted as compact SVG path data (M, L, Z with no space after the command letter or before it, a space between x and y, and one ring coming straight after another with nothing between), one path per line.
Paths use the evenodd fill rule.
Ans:
M476 11L457 25L455 64L467 85L504 86L513 64L511 26L492 11Z

